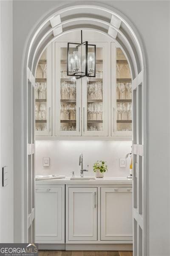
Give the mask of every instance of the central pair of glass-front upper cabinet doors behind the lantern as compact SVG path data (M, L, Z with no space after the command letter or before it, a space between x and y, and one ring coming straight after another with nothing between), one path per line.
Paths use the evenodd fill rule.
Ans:
M55 43L56 135L108 136L108 43L95 44L96 77L76 80L67 76L67 43Z

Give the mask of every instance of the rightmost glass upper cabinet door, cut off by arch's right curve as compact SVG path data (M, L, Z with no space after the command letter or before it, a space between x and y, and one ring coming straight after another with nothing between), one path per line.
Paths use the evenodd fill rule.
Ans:
M112 93L113 126L112 135L132 135L132 79L130 67L123 51L119 47L113 48L116 57L115 68L116 88ZM114 55L114 54L113 54ZM114 57L113 57L114 58Z

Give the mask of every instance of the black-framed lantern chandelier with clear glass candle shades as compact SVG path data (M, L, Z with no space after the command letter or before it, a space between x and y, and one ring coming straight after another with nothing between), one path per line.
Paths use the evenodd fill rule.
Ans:
M67 76L74 76L76 79L96 76L96 45L88 44L88 41L81 44L68 43L67 47Z

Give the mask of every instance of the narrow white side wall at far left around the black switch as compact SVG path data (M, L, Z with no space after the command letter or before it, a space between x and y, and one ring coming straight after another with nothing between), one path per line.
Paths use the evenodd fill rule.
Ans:
M0 243L14 239L12 1L0 1ZM8 185L2 187L2 167Z

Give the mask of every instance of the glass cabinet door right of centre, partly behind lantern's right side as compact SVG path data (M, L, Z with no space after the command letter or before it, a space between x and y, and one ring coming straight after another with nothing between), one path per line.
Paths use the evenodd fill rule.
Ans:
M82 135L108 136L108 43L96 44L96 76L82 79Z

